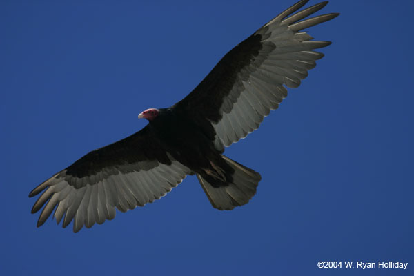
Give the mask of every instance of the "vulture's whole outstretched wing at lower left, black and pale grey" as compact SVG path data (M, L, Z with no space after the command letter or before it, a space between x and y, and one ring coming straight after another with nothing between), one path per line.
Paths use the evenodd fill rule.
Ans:
M55 210L63 227L92 227L115 217L115 208L126 212L166 195L190 174L172 158L146 126L139 132L87 155L34 188L29 197L43 194L32 208L43 206L37 226ZM46 203L47 202L47 203ZM46 206L45 206L46 204Z

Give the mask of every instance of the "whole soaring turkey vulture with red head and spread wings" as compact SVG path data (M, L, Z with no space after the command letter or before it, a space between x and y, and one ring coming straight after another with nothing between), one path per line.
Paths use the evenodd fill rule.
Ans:
M148 119L139 132L89 152L34 188L29 197L43 191L32 208L36 213L44 206L37 226L53 210L63 227L73 220L74 232L102 224L115 217L115 208L126 212L155 201L186 175L197 175L214 208L248 203L261 177L224 156L224 147L259 128L287 96L285 86L297 88L324 56L314 49L331 44L302 30L338 14L304 19L327 1L293 14L306 2L295 3L235 46L187 97L139 114Z

